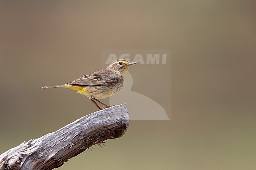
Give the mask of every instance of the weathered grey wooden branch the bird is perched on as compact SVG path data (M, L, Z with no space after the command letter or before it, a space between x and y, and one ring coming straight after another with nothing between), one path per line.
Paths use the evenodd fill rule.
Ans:
M0 155L0 170L52 170L87 148L121 137L130 124L126 104L86 115Z

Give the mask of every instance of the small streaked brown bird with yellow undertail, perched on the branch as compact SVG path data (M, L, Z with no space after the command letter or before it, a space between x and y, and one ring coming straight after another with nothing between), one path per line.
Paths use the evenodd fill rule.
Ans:
M45 88L69 88L78 91L82 95L86 95L100 109L100 106L95 102L99 102L105 108L110 106L104 104L98 99L106 99L118 93L124 85L124 73L131 65L136 62L128 62L127 60L115 60L105 69L96 71L92 74L84 75L78 79L61 85L45 86Z

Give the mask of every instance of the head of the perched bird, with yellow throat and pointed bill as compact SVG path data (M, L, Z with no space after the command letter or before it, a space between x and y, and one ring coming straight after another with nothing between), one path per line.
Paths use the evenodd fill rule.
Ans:
M124 73L131 65L137 62L129 62L127 60L119 59L111 62L108 66L109 69L114 69L118 73Z

